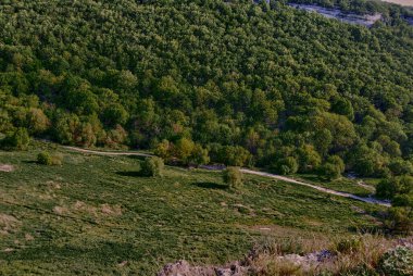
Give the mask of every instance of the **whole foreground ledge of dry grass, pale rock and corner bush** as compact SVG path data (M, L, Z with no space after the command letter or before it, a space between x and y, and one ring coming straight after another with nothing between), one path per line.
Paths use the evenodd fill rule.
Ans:
M412 242L411 238L397 240L379 235L358 235L327 242L266 238L258 242L245 259L227 266L190 266L180 261L168 264L159 275L189 272L189 275L204 276L410 276L413 272Z

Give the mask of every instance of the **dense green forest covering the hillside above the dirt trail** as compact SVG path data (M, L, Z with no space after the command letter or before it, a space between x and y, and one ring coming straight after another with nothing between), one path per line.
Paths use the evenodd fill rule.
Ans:
M411 174L413 27L389 16L368 29L275 1L2 1L3 147L27 130L187 163Z

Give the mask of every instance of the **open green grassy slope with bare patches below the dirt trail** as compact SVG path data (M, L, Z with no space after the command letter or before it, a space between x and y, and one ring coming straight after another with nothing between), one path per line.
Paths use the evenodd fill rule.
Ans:
M177 259L225 263L264 235L371 227L360 209L380 209L255 176L237 193L213 172L167 167L163 178L142 178L132 158L64 152L63 166L47 167L34 162L37 152L0 151L0 164L16 167L0 172L0 275L151 275Z

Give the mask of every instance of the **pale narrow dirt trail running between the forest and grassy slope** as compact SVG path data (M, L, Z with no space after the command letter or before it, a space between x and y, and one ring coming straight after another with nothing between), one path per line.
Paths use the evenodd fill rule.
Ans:
M89 153L89 154L97 154L97 155L107 155L107 156L122 156L122 155L146 156L146 158L153 156L152 154L136 152L136 151L97 151L97 150L87 150L87 149L82 149L82 148L76 148L76 147L63 147L63 148L71 150L71 151L77 151L77 152L82 152L82 153ZM378 204L378 205L383 205L383 206L391 206L391 204L388 201L383 201L383 200L378 200L378 199L371 198L371 197L370 198L363 198L363 197L359 197L359 196L348 193L348 192L336 191L336 190L323 188L323 187L320 187L316 185L299 181L299 180L296 180L296 179L292 179L292 178L289 178L286 176L280 176L280 175L275 175L275 174L270 174L270 173L264 173L264 172L259 172L259 171L252 171L252 170L248 170L248 168L241 168L241 172L243 174L270 177L270 178L278 179L278 180L286 181L286 183L291 183L291 184L297 184L297 185L310 187L312 189L315 189L315 190L318 190L318 191L322 191L325 193L335 195L338 197L354 199L354 200L363 201L366 203L373 203L373 204Z

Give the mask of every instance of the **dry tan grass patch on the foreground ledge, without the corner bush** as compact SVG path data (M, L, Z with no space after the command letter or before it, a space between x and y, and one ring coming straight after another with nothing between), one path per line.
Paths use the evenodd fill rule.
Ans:
M374 272L380 258L398 244L413 244L413 238L387 239L379 235L363 235L352 239L331 240L324 244L331 254L323 261L308 261L311 252L323 248L317 239L266 241L255 247L245 260L253 275L352 275L355 271ZM342 244L348 244L342 246ZM364 275L364 274L363 274Z

